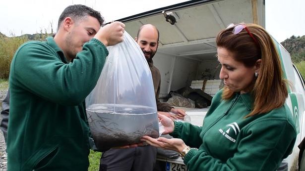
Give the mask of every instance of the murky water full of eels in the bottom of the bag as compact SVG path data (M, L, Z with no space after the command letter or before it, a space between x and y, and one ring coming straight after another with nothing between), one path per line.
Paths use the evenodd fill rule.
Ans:
M137 143L143 135L159 137L158 117L152 107L93 104L86 110L94 143L101 151Z

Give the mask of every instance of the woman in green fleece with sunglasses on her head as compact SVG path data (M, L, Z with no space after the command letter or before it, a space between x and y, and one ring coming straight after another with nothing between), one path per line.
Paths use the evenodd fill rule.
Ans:
M175 138L142 140L181 153L189 171L276 171L297 132L275 44L255 24L230 24L216 43L225 87L213 97L202 127L159 115L163 134Z

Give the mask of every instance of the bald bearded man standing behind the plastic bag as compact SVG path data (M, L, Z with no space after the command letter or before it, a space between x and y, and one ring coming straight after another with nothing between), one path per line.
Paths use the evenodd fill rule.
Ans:
M158 48L159 31L153 25L144 25L139 29L135 41L144 53L151 71L156 102L155 105L157 105L158 113L173 119L183 119L185 115L183 110L175 109L170 104L161 103L159 101L161 75L152 61L152 57L155 55ZM149 91L149 88L146 91ZM144 95L140 92L138 94ZM147 96L147 98L148 97L150 96ZM172 114L167 112L172 112ZM133 124L141 125L142 123L133 122ZM100 171L152 171L156 162L156 154L157 148L150 145L127 149L110 149L102 154Z

